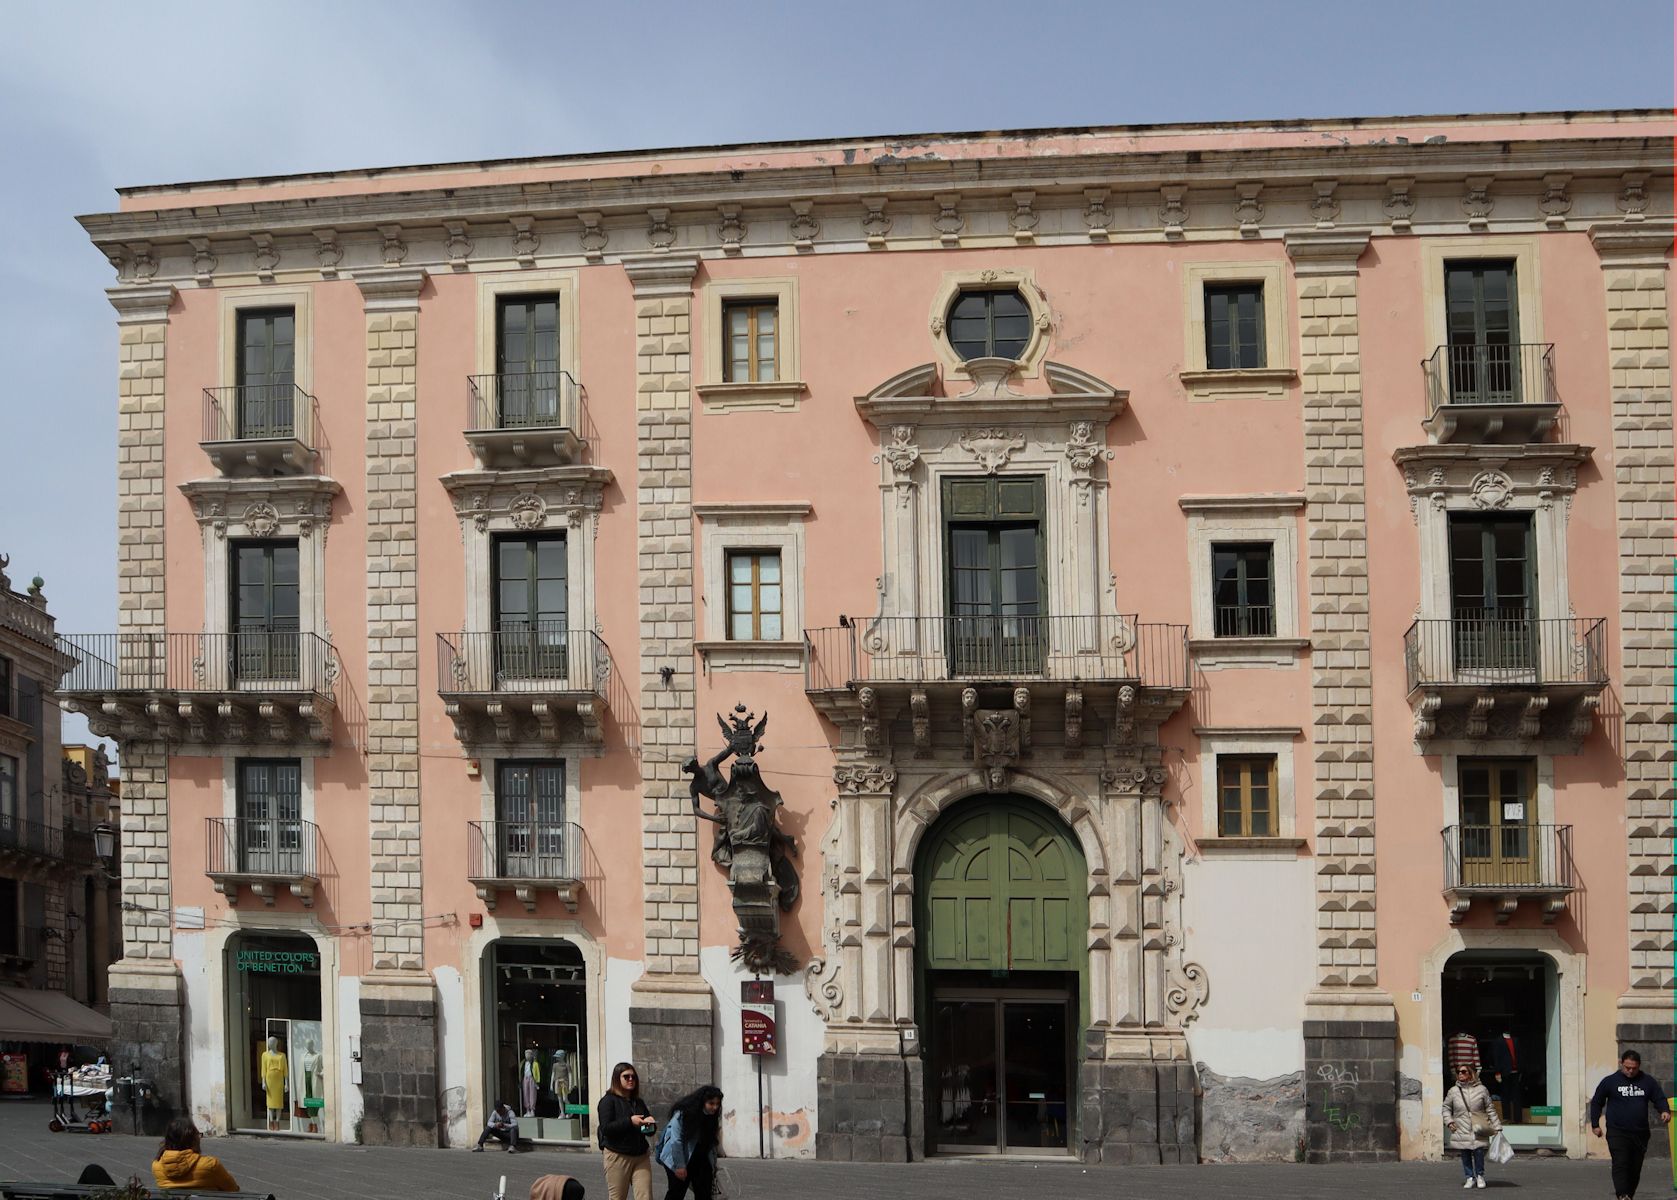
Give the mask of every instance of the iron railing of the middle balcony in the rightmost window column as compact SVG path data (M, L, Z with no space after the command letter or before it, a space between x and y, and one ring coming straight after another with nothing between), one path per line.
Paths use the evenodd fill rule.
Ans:
M1404 634L1409 689L1422 684L1607 684L1607 622L1459 613Z

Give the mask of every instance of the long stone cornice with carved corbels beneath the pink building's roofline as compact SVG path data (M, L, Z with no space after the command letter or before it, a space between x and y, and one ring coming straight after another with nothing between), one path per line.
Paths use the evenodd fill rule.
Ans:
M1332 171L1325 171L1332 166ZM1650 225L1647 139L1100 154L376 193L82 218L122 283L213 287L676 256ZM394 297L392 297L394 298Z

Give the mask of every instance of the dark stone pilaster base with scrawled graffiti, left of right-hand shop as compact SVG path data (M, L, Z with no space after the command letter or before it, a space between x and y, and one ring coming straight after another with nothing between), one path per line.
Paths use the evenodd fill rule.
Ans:
M1305 1022L1305 1161L1397 1161L1397 1022Z

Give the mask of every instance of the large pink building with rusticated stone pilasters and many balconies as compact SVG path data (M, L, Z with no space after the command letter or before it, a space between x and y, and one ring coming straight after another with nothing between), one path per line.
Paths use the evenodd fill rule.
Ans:
M1586 1153L1672 1068L1672 114L121 193L119 1059L755 1151L683 763L771 716L770 1151ZM1628 863L1628 872L1627 872Z

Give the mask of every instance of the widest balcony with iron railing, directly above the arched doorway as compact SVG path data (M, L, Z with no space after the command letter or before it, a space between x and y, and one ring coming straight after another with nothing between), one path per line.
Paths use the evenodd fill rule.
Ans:
M859 721L864 744L907 711L917 753L934 724L959 719L976 736L978 714L1013 709L1033 722L1063 717L1068 749L1097 716L1114 736L1137 717L1162 719L1187 701L1187 627L1135 617L879 617L803 630L803 691L835 722Z

